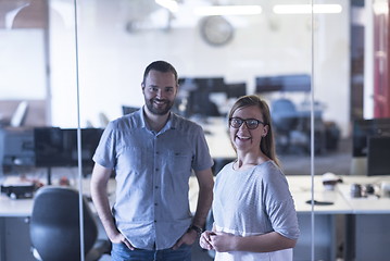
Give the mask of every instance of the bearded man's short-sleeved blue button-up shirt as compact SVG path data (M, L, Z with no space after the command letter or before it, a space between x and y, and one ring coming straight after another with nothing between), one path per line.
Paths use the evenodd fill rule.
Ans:
M111 122L93 160L113 169L117 228L140 249L171 248L191 224L188 181L211 167L202 128L174 113L155 133L143 109Z

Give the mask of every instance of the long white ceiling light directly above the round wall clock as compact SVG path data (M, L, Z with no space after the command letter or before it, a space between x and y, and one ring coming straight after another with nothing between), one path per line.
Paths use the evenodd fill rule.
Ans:
M196 15L251 15L260 14L260 5L217 5L217 7L199 7L193 10Z

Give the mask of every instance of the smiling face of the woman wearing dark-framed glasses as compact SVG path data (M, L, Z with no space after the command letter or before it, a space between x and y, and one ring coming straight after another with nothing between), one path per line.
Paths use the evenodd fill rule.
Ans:
M241 152L260 151L260 142L262 138L267 135L268 132L268 126L265 126L264 124L256 122L256 121L264 122L260 108L256 105L239 108L235 111L231 119L234 119L232 121L235 121L236 127L239 125L241 120L243 120L241 126L239 126L238 128L231 126L231 121L229 125L230 139L235 145L237 151L241 151ZM248 120L254 120L254 121L248 121ZM248 125L250 127L248 127Z

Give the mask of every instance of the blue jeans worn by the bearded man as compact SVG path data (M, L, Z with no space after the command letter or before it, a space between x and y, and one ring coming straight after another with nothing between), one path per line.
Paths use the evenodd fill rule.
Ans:
M180 248L173 250L130 250L124 244L113 244L111 251L112 261L190 261L191 246L183 244Z

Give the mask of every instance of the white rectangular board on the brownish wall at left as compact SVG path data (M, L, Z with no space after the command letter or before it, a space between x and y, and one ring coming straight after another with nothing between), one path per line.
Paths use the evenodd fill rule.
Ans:
M41 29L0 29L0 100L45 99Z

